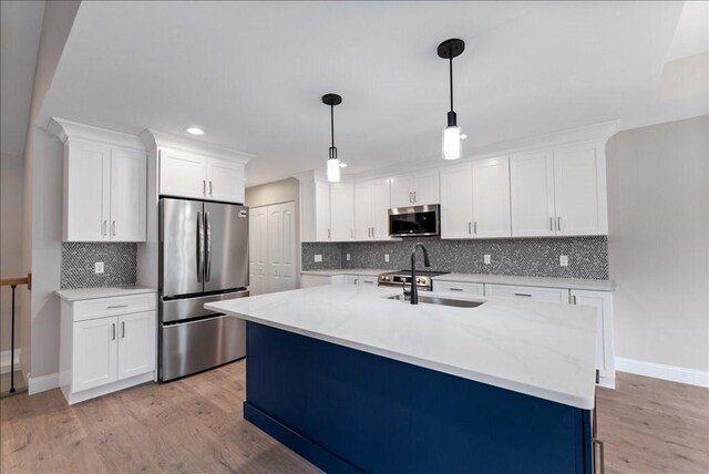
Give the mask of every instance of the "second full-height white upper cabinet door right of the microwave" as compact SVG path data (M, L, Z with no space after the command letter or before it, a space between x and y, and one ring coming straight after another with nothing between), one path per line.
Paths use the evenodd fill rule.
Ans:
M473 162L473 233L477 238L510 237L510 159Z

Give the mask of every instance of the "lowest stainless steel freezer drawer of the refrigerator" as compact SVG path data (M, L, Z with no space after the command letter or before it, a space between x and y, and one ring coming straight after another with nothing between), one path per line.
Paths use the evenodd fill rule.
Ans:
M188 375L246 356L246 322L232 316L161 324L160 380Z

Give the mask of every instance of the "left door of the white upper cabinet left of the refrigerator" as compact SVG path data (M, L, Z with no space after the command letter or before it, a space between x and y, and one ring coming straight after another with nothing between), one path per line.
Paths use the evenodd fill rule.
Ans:
M64 152L64 241L109 240L111 147L71 142Z

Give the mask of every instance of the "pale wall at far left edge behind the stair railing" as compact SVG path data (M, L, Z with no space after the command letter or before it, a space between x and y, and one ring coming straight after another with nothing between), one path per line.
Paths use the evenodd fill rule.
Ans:
M2 278L23 277L22 274L22 202L24 183L24 159L22 156L2 153L0 156L0 276ZM16 348L20 347L20 301L25 286L16 290ZM10 287L0 289L0 352L10 350L11 336ZM9 359L8 359L9 361Z

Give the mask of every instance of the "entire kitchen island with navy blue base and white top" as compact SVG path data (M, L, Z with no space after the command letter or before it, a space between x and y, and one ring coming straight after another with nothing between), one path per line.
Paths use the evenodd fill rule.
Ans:
M592 309L399 292L206 305L248 321L244 416L327 472L592 472Z

